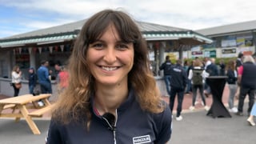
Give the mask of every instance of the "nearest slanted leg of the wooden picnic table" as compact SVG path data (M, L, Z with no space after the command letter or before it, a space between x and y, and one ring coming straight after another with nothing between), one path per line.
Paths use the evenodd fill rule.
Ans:
M38 126L36 126L30 115L28 115L29 112L28 110L26 110L26 106L22 105L19 107L19 109L21 110L23 117L26 119L27 124L30 126L30 129L32 130L33 134L41 134L38 130Z

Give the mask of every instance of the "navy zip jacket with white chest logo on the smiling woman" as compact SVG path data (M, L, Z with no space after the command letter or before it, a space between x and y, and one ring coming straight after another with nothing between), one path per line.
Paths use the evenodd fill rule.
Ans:
M93 102L91 103L93 105ZM90 110L92 118L89 131L83 125L86 116L83 116L79 122L70 122L66 125L51 120L47 144L114 144L114 138L117 144L142 142L163 144L170 139L169 106L166 105L165 110L159 114L143 111L136 101L133 90L130 90L126 102L117 110L115 130L110 130L107 122L93 108Z

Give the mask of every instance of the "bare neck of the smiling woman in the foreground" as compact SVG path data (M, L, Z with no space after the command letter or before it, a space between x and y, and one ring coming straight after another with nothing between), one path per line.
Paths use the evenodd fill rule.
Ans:
M115 114L115 110L124 102L128 96L128 86L119 84L118 86L97 86L94 95L94 108L100 115L110 112Z

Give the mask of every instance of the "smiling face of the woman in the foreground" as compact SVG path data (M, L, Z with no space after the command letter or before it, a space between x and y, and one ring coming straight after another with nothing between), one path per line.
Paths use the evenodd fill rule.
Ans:
M127 82L134 65L134 45L122 42L118 31L110 25L101 38L88 46L86 58L96 83L114 86Z

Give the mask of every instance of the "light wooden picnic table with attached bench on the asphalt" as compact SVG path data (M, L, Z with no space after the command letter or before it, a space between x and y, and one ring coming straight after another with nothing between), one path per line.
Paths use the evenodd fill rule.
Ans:
M25 118L33 134L41 134L32 117L42 117L42 114L51 110L54 105L50 104L48 101L50 96L51 94L39 94L37 96L25 94L18 97L4 98L0 100L0 118L15 118L16 122L18 122L20 118ZM37 102L39 100L44 102L45 106L38 106ZM6 109L12 110L4 112ZM37 110L31 111L30 109ZM18 113L15 113L15 111L18 111Z

